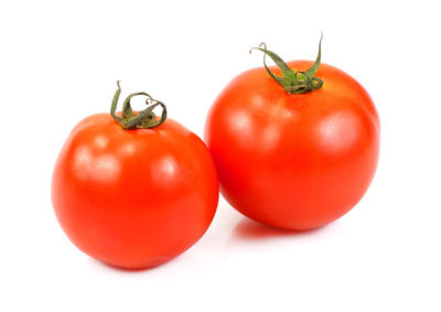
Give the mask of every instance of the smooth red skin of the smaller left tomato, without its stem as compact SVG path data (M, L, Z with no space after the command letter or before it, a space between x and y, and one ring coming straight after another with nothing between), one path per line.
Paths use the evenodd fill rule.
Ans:
M149 268L203 236L216 212L218 180L204 142L176 121L123 130L98 114L67 138L52 201L80 250L112 266Z

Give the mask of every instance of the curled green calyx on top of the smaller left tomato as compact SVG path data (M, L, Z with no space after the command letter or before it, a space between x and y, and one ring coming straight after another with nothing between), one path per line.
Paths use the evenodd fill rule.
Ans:
M121 87L119 86L119 80L117 82L118 89L115 93L114 100L111 101L110 115L125 130L133 129L149 129L161 125L166 119L166 107L162 101L153 99L147 93L135 93L129 95L122 104L122 115L121 117L116 115L119 95L121 94ZM146 96L147 108L141 110L139 114L135 114L130 106L130 99L135 96ZM161 118L157 118L153 109L160 105L162 107Z

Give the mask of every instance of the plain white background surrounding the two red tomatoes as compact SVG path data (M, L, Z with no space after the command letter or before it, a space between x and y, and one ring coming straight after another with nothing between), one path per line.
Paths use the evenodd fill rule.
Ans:
M441 22L437 1L1 1L0 311L440 311ZM260 226L219 202L174 260L123 271L82 254L52 211L76 122L146 90L203 135L216 95L261 65L316 55L381 119L362 202L319 230Z

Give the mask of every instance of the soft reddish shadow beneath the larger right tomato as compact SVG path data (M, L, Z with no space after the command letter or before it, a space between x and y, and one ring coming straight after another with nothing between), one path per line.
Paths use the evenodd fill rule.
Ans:
M248 218L240 220L233 229L232 236L238 239L261 240L275 237L312 236L322 232L327 226L309 230L289 230L268 226Z

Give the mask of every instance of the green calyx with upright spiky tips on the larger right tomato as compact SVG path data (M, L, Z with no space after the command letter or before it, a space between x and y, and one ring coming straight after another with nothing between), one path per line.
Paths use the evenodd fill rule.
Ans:
M271 78L273 78L276 82L278 82L279 85L281 85L288 94L290 94L290 95L305 94L305 93L316 90L321 86L323 86L323 80L320 79L319 77L314 77L315 73L319 71L320 60L322 56L322 39L323 39L323 34L320 37L320 42L319 42L318 57L316 57L314 64L312 64L312 66L305 72L292 71L279 55L267 50L267 45L265 43L261 43L257 47L251 47L249 53L251 53L252 50L259 50L259 51L263 52L265 68L267 69L267 72L271 76ZM271 60L276 63L276 65L282 71L282 76L277 76L277 75L275 75L275 73L271 72L271 69L269 69L269 67L267 66L267 63L266 63L267 55L269 57L271 57Z

